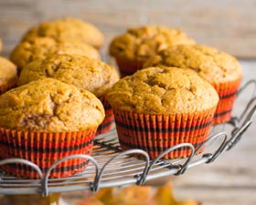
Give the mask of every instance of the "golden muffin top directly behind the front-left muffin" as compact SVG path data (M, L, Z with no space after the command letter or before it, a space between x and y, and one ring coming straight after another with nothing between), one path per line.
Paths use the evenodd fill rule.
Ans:
M107 64L78 55L54 55L33 61L20 73L18 85L52 77L64 83L91 91L101 97L119 79L117 71Z

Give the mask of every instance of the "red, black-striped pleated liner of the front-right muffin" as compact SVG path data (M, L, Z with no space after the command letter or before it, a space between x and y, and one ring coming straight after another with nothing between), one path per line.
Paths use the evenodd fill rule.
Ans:
M195 149L207 138L216 108L195 114L144 115L114 110L119 142L123 150L143 149L151 159L165 149L181 143L191 143ZM202 152L204 148L200 149ZM169 152L164 159L186 158L191 149L181 148Z

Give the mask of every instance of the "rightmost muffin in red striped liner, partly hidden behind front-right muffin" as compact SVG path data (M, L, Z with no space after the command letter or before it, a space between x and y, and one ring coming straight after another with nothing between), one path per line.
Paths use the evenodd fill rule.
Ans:
M178 45L160 51L144 65L153 66L195 70L200 77L208 80L219 94L214 123L229 121L242 73L236 58L209 46Z

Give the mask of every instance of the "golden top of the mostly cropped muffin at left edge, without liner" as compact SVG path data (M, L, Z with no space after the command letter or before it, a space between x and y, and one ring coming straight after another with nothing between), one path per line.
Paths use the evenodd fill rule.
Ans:
M17 80L16 65L0 56L0 87Z

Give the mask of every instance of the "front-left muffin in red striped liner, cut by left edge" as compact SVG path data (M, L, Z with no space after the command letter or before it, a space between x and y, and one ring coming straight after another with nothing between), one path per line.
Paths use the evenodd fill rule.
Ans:
M104 118L101 101L91 92L44 78L16 87L0 96L0 158L27 159L45 175L58 159L91 155L96 129ZM85 159L60 163L51 178L67 177L87 164ZM5 172L38 178L27 165L12 164Z

